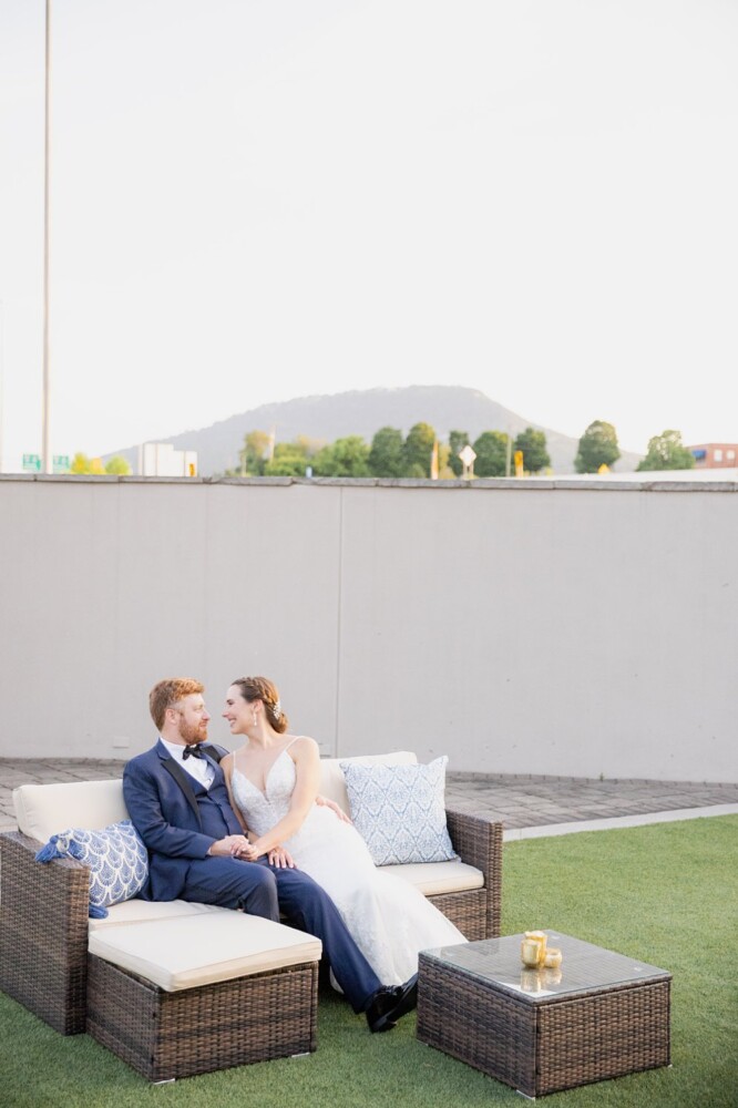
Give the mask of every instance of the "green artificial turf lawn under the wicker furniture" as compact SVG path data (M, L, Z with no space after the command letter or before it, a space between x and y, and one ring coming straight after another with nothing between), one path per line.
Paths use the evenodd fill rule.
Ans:
M674 974L673 1068L554 1094L552 1108L738 1105L738 817L584 832L504 849L503 934L551 929ZM543 1098L542 1098L543 1099ZM522 1105L513 1089L321 992L318 1049L150 1086L86 1035L64 1038L0 994L3 1108L454 1108Z

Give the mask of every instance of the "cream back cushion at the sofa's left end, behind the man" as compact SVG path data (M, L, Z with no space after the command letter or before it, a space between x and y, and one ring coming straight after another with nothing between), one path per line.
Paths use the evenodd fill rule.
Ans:
M48 842L66 828L96 828L127 820L121 781L21 784L13 789L18 830Z

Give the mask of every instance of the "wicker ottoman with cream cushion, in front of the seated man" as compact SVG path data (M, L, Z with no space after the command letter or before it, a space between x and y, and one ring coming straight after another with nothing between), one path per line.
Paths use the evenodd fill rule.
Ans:
M150 1081L306 1054L320 951L239 912L95 930L88 1034Z

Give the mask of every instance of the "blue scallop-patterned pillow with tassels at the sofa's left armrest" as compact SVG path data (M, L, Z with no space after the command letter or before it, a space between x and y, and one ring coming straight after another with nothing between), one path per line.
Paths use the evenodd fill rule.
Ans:
M111 904L136 896L148 876L148 854L131 820L100 831L70 828L52 834L37 862L75 858L90 870L90 915L104 920Z

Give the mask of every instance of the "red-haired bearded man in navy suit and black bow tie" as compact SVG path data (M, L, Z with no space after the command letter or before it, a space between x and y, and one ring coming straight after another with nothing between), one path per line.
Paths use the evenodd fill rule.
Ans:
M417 1002L418 978L383 986L346 930L327 893L307 873L248 862L248 840L230 807L218 762L225 750L204 746L209 715L204 686L191 678L158 681L148 706L160 733L123 771L123 794L148 850L146 900L186 900L242 909L316 935L336 981L372 1032L385 1032Z

